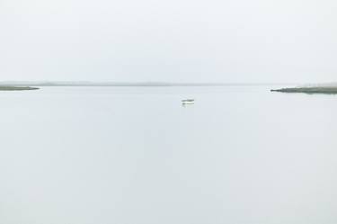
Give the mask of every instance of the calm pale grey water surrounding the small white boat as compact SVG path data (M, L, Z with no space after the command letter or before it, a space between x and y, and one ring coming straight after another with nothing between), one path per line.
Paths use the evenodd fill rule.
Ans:
M337 95L269 89L0 92L0 223L337 223Z

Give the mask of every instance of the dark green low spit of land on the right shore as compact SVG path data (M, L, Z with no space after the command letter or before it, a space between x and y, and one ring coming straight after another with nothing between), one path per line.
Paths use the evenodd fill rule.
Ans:
M337 86L295 87L295 88L272 89L270 91L280 93L337 94Z

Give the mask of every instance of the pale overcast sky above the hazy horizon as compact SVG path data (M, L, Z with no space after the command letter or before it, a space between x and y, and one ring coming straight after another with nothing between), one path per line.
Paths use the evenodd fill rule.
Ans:
M0 80L330 82L333 0L0 0Z

